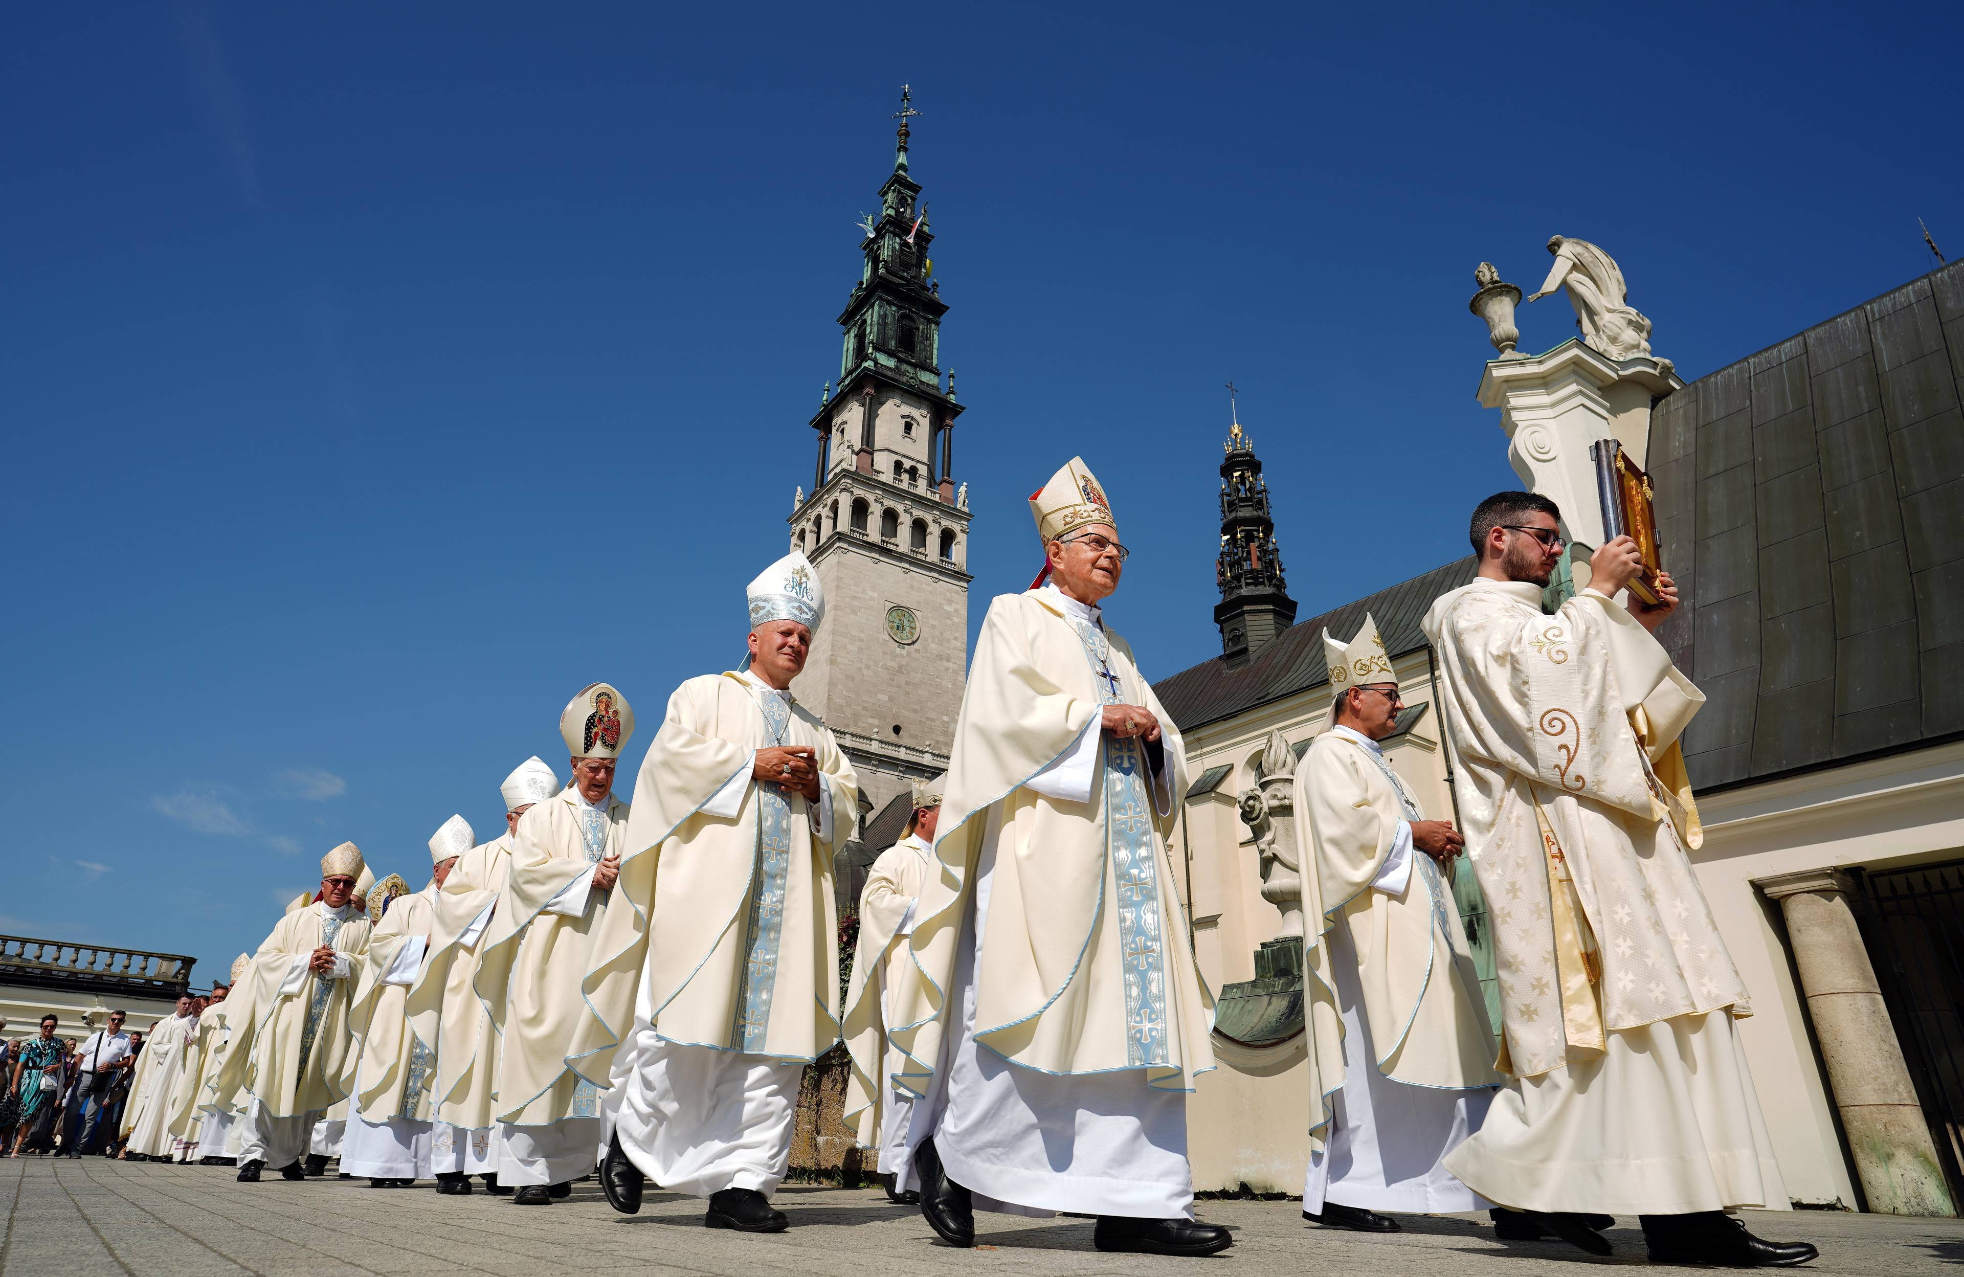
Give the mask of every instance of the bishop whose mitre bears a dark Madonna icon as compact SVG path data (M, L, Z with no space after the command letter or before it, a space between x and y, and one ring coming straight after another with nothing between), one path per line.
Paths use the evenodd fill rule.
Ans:
M566 705L560 737L573 782L518 817L477 967L477 996L501 1031L497 1179L517 1187L518 1206L570 1194L599 1153L599 1086L573 1069L568 1043L585 1010L587 951L621 874L628 805L613 796L613 778L632 735L634 709L613 684L589 684Z

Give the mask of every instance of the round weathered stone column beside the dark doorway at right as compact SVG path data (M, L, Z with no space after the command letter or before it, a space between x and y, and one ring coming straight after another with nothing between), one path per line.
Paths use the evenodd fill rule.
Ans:
M1848 908L1852 880L1838 868L1811 868L1758 878L1756 886L1779 902L1787 919L1801 994L1868 1208L1956 1214L1862 929Z

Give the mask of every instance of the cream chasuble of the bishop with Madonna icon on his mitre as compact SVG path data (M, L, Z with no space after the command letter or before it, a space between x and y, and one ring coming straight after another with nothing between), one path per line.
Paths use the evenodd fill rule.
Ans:
M475 990L497 1041L493 1116L511 1126L597 1118L599 1090L570 1065L587 1018L579 980L621 894L591 886L593 866L625 857L628 805L587 804L566 786L518 817L511 868L477 963ZM630 910L632 912L632 910ZM605 1071L599 1075L605 1084Z

